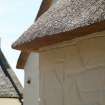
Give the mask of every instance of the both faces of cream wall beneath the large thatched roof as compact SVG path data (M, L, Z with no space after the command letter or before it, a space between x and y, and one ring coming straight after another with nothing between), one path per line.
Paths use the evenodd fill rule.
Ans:
M105 105L105 32L32 53L24 105Z

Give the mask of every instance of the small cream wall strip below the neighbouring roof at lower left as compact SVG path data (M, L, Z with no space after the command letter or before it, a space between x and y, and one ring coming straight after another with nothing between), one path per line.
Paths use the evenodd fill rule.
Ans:
M0 105L21 105L21 103L15 98L0 98Z

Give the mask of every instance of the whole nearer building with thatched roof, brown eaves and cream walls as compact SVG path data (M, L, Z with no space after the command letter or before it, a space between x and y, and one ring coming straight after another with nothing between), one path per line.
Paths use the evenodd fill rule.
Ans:
M104 0L43 0L12 47L25 69L24 105L105 104Z

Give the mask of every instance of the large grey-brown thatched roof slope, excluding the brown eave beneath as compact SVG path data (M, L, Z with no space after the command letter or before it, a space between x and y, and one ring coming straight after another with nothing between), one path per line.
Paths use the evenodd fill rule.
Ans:
M58 0L23 33L13 47L103 20L105 0Z

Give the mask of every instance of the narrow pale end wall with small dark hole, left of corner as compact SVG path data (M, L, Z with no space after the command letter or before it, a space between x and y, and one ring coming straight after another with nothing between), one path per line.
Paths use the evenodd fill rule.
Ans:
M24 105L38 105L38 99L39 56L37 53L31 53L25 66Z

